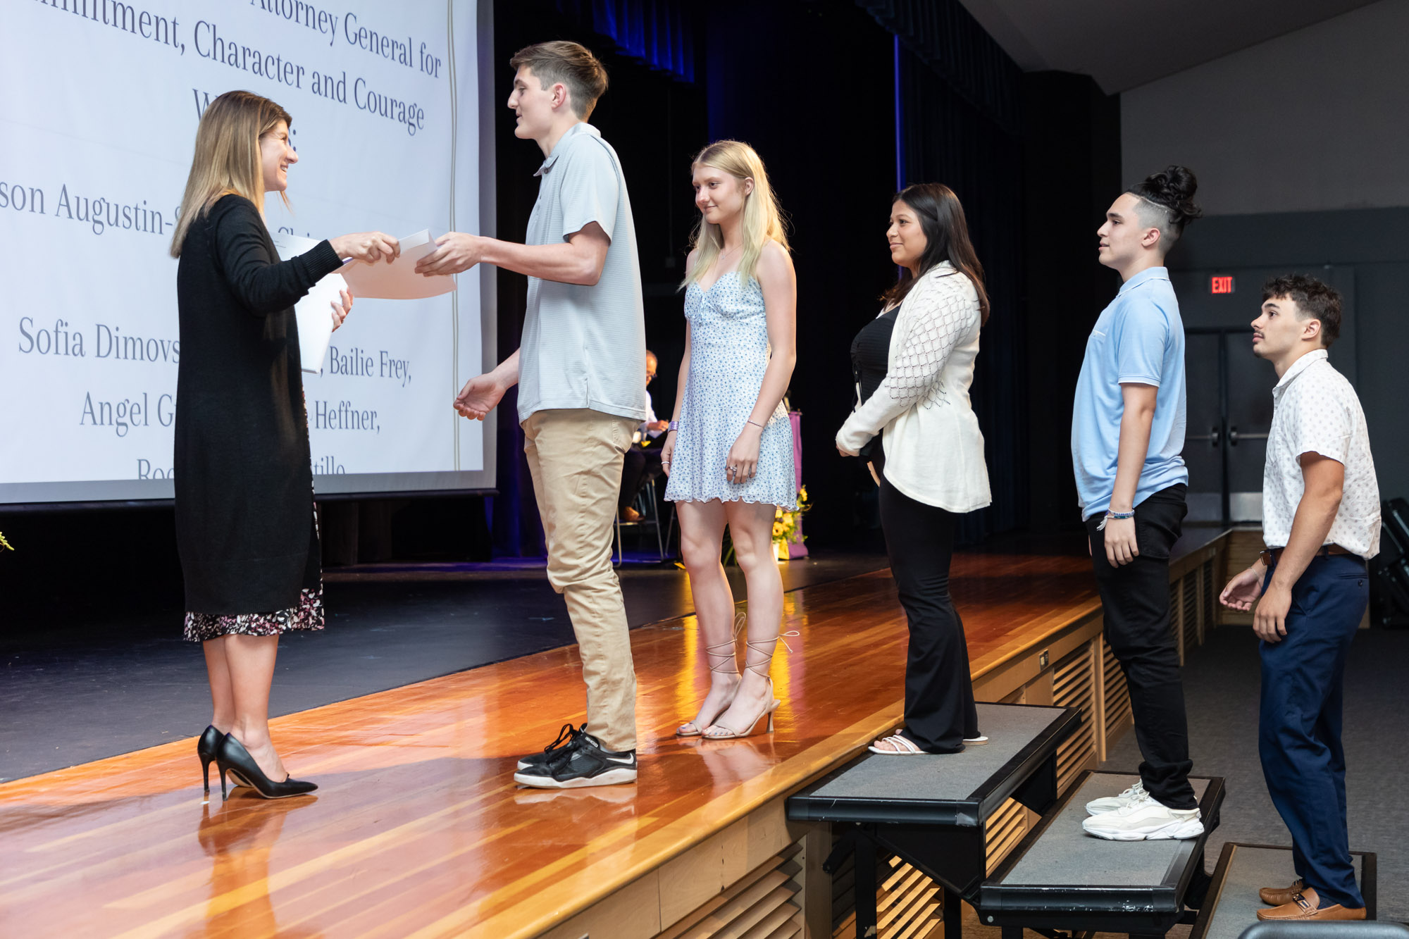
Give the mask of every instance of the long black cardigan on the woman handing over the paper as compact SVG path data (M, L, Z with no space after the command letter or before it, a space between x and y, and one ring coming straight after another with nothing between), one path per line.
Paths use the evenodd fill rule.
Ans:
M318 585L293 305L338 266L327 241L279 261L241 196L221 197L186 234L173 467L187 612L286 609Z

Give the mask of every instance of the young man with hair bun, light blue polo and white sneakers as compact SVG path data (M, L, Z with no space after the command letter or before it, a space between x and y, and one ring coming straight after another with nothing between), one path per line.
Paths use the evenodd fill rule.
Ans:
M1122 193L1096 233L1123 285L1086 341L1071 453L1106 642L1130 687L1140 781L1086 805L1088 833L1196 837L1189 729L1169 632L1169 550L1185 516L1184 321L1164 258L1202 213L1198 180L1169 166Z

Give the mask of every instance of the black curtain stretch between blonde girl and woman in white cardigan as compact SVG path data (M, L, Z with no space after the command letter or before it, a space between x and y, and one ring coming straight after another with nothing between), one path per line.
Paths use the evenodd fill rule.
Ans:
M895 278L885 228L895 192L892 37L851 0L716 0L702 62L710 140L762 156L788 213L797 271L802 478L814 548L881 550L875 485L837 454L851 413L851 340ZM681 313L679 299L674 316ZM664 362L662 362L664 364Z

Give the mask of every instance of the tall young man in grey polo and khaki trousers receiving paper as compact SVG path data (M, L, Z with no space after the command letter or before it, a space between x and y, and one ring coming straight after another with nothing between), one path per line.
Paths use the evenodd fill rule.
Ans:
M458 274L493 264L528 275L519 351L469 379L455 409L482 420L514 383L548 581L564 595L582 654L588 720L519 761L514 781L576 788L635 781L635 671L612 520L621 460L645 419L645 320L631 202L616 151L585 123L607 87L576 42L520 49L509 107L514 135L545 156L526 244L449 233L417 265Z

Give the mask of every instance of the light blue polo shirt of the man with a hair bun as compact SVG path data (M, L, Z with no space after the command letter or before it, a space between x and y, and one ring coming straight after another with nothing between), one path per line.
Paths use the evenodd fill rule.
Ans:
M1155 385L1150 450L1136 505L1160 489L1189 482L1184 465L1184 321L1165 268L1147 268L1126 281L1086 340L1071 415L1071 461L1081 516L1110 508L1120 447L1122 382Z

